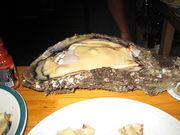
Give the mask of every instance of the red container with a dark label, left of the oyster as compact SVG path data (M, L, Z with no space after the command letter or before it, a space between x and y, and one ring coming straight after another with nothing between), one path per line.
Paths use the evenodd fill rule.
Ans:
M0 41L0 84L11 88L19 86L19 78L14 61L4 48L3 41Z

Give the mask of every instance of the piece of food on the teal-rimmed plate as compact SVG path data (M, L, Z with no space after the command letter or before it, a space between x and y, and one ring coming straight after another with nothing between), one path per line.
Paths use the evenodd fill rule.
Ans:
M0 113L0 135L6 135L11 127L11 114Z

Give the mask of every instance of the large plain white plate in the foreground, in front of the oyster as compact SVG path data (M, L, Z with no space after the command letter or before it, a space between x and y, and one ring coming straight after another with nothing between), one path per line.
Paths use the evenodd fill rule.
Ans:
M159 99L161 100L161 99ZM96 135L118 135L126 124L144 124L145 135L179 135L180 122L145 103L121 98L96 98L66 106L42 120L28 135L56 135L67 127L88 124Z

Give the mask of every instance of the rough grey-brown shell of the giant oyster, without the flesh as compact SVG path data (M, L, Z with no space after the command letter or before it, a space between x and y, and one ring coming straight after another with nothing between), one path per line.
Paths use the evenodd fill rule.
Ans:
M179 57L162 57L139 46L136 46L136 48L141 50L141 58L149 63L139 71L124 71L103 67L46 80L35 78L35 69L41 60L48 58L54 53L63 51L75 42L94 38L107 39L125 47L134 45L129 41L100 34L74 35L48 48L33 61L23 73L22 85L36 91L43 91L46 95L70 93L76 89L104 89L117 92L140 89L146 94L154 96L175 87L176 83L180 81Z

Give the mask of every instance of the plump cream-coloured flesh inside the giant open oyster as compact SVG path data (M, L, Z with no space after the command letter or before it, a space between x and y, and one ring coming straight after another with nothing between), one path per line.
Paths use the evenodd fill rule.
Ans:
M44 74L52 78L101 67L121 69L138 66L128 48L110 41L85 40L71 45L69 51L71 52L65 52L60 63L57 62L58 56L48 58L43 68Z

